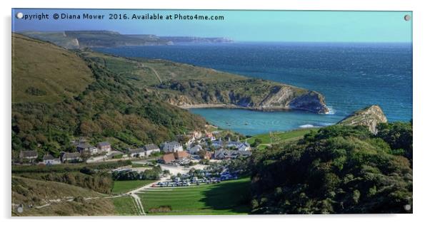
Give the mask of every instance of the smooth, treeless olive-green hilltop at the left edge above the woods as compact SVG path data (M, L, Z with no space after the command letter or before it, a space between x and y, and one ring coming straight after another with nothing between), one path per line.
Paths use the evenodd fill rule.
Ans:
M16 33L12 33L12 62L13 103L58 103L94 81L76 53Z

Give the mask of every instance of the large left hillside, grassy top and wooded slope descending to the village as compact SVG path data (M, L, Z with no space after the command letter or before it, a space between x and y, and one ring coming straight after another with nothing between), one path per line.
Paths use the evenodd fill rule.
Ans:
M125 150L204 129L202 117L164 103L155 93L136 88L90 58L31 38L12 38L14 55L22 56L14 59L14 68L25 68L12 74L14 157L20 150L37 150L40 157L45 152L58 156L60 151L74 150L70 141L76 137L88 137L92 144L109 140L113 147ZM25 56L29 53L34 55ZM34 63L34 58L44 62ZM34 75L33 71L41 70ZM66 74L64 78L58 78L58 71ZM41 82L51 79L57 81ZM35 86L31 95L26 94L29 85Z

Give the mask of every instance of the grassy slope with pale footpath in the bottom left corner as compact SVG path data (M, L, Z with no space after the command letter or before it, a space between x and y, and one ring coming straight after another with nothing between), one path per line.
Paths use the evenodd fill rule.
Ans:
M21 213L17 210L20 204ZM103 216L113 215L115 207L110 199L89 189L12 177L11 211L12 216Z

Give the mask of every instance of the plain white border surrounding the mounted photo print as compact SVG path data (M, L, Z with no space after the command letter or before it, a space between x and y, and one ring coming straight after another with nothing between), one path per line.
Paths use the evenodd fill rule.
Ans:
M289 215L289 216L164 216L164 217L74 217L57 219L15 219L10 217L10 145L11 145L11 8L106 8L106 9L285 9L285 10L372 10L372 11L413 11L414 16L414 214L397 215ZM279 0L264 1L132 1L132 0L73 0L73 1L1 1L1 152L4 163L1 165L4 174L1 193L2 222L13 224L76 224L94 223L100 220L103 224L416 224L426 219L429 209L429 171L426 162L430 159L426 138L430 127L426 115L429 114L429 8L426 1L398 0L292 0L281 3ZM427 40L427 42L425 41ZM268 220L269 221L266 221ZM124 220L121 221L121 220Z

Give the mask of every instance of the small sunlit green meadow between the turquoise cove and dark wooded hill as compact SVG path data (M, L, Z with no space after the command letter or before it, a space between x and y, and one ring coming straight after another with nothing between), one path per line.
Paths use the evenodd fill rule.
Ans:
M291 130L286 132L272 132L271 133L272 144L299 140L301 137L311 132L311 130L316 131L316 130L319 130L319 128L306 128L306 129ZM270 144L270 134L255 135L254 137L250 137L248 139L248 143L253 144L257 138L261 140L261 144L262 144L257 147L259 149L264 148L264 146Z

